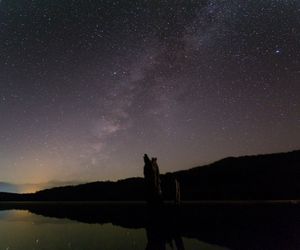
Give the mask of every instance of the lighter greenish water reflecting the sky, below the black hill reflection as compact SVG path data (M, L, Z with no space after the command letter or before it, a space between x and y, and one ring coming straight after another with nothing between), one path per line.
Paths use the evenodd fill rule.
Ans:
M197 239L183 237L182 240L186 250L228 249ZM69 219L44 217L24 210L0 211L0 250L126 250L146 249L147 244L147 232L143 228L128 229L111 223L88 224ZM165 249L172 248L167 243Z

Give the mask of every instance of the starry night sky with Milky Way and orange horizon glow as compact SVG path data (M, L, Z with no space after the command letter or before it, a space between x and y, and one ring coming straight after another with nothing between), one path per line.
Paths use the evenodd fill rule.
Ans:
M0 180L300 148L298 0L1 0Z

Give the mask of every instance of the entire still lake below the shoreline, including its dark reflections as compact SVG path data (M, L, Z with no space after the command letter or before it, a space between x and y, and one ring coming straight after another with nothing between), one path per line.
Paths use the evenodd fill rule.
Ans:
M296 250L299 235L292 203L0 203L0 250Z

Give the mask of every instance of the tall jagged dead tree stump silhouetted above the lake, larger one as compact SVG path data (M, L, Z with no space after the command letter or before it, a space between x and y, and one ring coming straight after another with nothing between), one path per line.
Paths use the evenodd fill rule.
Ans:
M149 204L160 203L162 201L159 168L156 161L156 158L150 160L148 155L144 155L144 176Z

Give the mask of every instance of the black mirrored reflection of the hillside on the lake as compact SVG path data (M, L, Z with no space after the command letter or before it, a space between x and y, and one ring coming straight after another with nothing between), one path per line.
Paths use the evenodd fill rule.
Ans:
M189 237L230 249L296 250L300 249L299 206L187 203L180 208L166 204L153 211L143 203L23 203L11 204L10 208L85 223L146 228L152 240Z

